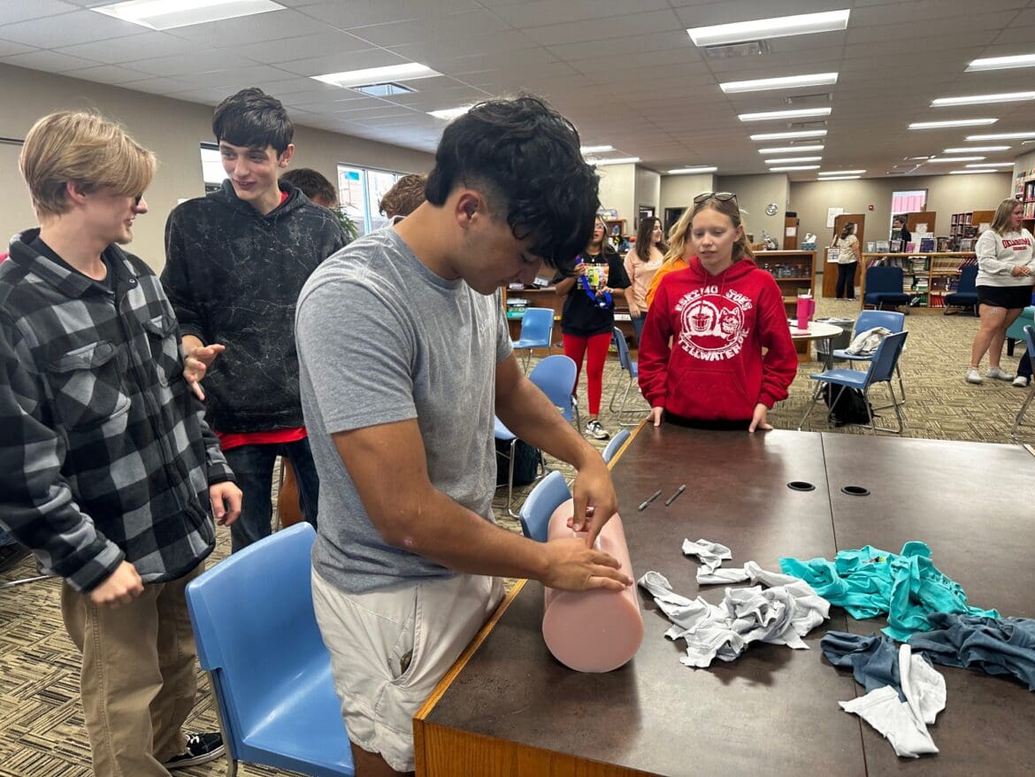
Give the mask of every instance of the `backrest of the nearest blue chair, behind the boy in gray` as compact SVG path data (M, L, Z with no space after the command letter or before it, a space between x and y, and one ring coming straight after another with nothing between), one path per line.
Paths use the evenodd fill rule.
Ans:
M187 584L198 659L219 675L232 752L277 699L300 692L300 665L330 665L313 611L315 539L312 524L296 523Z

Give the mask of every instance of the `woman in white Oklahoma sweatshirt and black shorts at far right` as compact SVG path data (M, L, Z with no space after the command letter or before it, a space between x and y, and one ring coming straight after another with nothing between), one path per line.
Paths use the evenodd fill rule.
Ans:
M992 228L977 238L977 299L980 324L971 346L968 383L980 383L978 365L988 354L989 378L1013 380L1001 369L1003 342L1021 312L1032 301L1035 256L1032 233L1022 226L1024 205L1009 197L999 203Z

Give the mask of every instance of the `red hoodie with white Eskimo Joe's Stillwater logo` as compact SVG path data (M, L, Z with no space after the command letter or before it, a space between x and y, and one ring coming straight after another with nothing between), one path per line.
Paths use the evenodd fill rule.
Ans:
M650 406L683 418L749 421L759 402L771 409L798 372L776 281L750 259L712 276L693 257L658 285L639 368Z

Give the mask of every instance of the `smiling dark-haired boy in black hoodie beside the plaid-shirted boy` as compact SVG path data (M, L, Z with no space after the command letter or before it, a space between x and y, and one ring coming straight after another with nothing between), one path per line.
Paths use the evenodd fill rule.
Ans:
M316 523L319 480L298 395L295 301L346 240L333 213L277 181L295 152L294 124L278 99L242 89L216 107L212 132L229 178L169 215L161 282L183 333L184 375L206 401L244 492L231 529L237 551L270 534L278 455L291 461L302 514Z

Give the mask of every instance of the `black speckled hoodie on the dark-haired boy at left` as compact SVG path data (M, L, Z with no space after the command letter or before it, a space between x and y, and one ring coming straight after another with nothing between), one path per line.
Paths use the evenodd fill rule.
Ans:
M166 223L166 287L180 329L221 343L206 375L209 425L224 433L303 426L295 303L309 274L346 244L334 214L280 181L288 199L263 215L230 180Z

